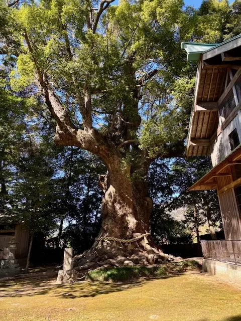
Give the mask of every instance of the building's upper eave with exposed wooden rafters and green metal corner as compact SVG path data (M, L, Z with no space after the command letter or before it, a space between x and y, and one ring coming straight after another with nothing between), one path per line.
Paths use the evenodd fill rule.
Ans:
M237 70L236 76L240 75L241 47L238 46L241 46L241 35L221 44L181 44L188 60L190 57L199 59L186 142L187 157L210 154L211 137L217 132L219 121L217 102L227 88L225 80L231 69ZM223 53L227 49L229 51ZM206 59L206 53L213 58Z

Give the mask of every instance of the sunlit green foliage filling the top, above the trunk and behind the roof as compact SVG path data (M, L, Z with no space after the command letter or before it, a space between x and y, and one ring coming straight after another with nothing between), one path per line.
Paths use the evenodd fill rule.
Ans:
M185 8L182 0L121 1L104 11L93 30L86 17L96 5L42 0L9 9L2 4L5 32L14 21L11 32L21 40L11 86L36 90L37 73L46 74L80 125L76 86L82 92L87 84L96 130L111 128L108 138L115 145L138 139L151 158L165 156L183 144L192 105L196 64L186 62L180 42L220 42L239 33L239 1L229 6L226 0L205 0L198 10ZM133 152L131 146L121 149L126 162Z

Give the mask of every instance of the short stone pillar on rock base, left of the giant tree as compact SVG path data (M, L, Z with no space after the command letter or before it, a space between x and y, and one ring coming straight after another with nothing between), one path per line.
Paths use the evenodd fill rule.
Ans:
M74 283L77 281L76 271L73 269L73 248L64 249L63 270L60 270L57 277L57 284Z

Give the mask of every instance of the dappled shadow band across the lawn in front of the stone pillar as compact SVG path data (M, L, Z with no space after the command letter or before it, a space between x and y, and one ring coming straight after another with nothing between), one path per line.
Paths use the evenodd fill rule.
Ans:
M167 279L170 277L178 277L181 274L168 275L159 279ZM147 282L156 280L157 278L141 279L129 282L109 283L104 281L82 281L68 285L56 285L55 280L18 280L11 283L0 283L0 297L23 297L50 294L59 298L80 298L94 297L100 294L108 294L129 290L135 287L141 287Z

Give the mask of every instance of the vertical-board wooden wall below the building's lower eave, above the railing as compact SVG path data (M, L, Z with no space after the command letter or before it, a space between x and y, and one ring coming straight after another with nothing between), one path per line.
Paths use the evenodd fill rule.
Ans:
M218 195L226 240L241 240L241 218L238 212L234 190Z

